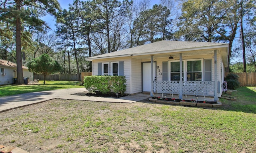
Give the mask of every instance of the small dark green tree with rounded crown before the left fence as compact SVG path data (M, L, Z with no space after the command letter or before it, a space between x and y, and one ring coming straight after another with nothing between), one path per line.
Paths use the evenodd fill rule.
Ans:
M48 54L43 54L28 62L28 70L44 75L45 84L46 75L59 72L61 67L60 64L57 61L54 61Z

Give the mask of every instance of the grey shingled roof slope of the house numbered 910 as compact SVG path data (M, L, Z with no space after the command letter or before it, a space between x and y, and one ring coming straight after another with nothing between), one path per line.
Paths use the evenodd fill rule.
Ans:
M146 45L141 45L137 47L132 47L120 51L115 51L112 53L106 53L102 55L97 55L94 57L86 58L88 61L94 59L104 59L104 58L113 58L113 57L126 57L126 56L136 56L136 55L154 55L160 53L175 53L181 51L191 51L191 50L200 50L200 49L214 49L228 47L227 43L208 43L208 42L194 42L194 41L157 41L154 43L149 43Z

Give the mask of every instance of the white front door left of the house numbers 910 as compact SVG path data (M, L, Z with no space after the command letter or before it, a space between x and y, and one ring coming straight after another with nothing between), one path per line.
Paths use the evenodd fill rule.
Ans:
M153 63L153 79L156 79L156 62ZM143 92L151 91L151 63L142 63L142 90Z

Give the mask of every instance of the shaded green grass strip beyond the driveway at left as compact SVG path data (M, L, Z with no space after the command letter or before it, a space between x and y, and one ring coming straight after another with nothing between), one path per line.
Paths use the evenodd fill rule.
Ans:
M84 86L77 86L76 81L39 81L39 84L33 85L6 85L0 86L0 97L11 96L14 94L24 94L29 92L49 91L56 89L68 88L84 88Z

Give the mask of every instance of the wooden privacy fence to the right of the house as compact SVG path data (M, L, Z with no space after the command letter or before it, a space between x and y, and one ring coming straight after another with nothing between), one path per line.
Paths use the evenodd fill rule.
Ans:
M225 73L227 76L230 73ZM238 76L240 86L256 86L256 72L254 73L232 73Z

